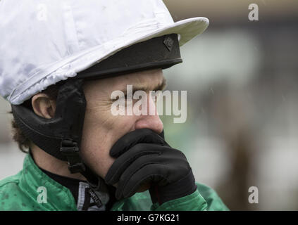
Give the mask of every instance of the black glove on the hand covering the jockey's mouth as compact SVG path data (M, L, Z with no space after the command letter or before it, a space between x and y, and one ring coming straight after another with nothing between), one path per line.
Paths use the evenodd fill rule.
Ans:
M151 200L159 204L197 189L185 155L150 129L125 134L111 148L110 155L116 160L105 180L109 185L118 183L118 200L134 195L144 184L150 184Z

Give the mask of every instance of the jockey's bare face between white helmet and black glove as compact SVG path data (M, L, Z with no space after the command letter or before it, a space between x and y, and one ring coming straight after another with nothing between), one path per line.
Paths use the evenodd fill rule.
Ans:
M113 91L120 90L124 94L127 85L133 91L143 90L147 93L147 109L155 111L154 115L113 115L111 99ZM85 122L82 131L82 158L99 176L105 177L115 159L109 151L114 143L124 134L135 129L148 128L161 133L163 124L156 113L154 97L149 91L160 90L165 86L162 70L147 70L119 77L97 79L85 82L84 92L87 100ZM132 105L135 101L132 102ZM131 105L126 105L130 107Z

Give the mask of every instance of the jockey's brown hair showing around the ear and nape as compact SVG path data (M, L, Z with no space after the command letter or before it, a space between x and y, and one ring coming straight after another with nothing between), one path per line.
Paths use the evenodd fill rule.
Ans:
M56 100L59 87L60 87L60 84L53 84L51 86L48 86L48 88L42 91L41 93L44 93L47 96L49 96L51 100ZM25 106L26 108L29 108L30 110L33 110L32 97L27 101L23 102L22 105ZM9 113L12 114L12 112L9 112ZM13 141L18 143L18 148L20 148L20 150L23 153L28 153L28 149L32 145L32 141L23 134L22 129L18 127L18 124L15 122L14 117L13 117L13 120L11 120L11 127L12 127Z

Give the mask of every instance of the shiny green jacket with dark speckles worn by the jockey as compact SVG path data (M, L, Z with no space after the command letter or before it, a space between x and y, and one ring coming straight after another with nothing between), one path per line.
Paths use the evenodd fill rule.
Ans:
M40 201L39 187L46 190L46 203ZM152 205L148 191L136 193L113 204L112 211L123 210L228 210L221 198L208 186L197 184L197 191L162 205ZM39 196L39 197L38 197ZM39 198L39 200L38 200ZM0 181L0 210L68 210L77 206L70 190L44 174L27 154L23 169L14 176Z

